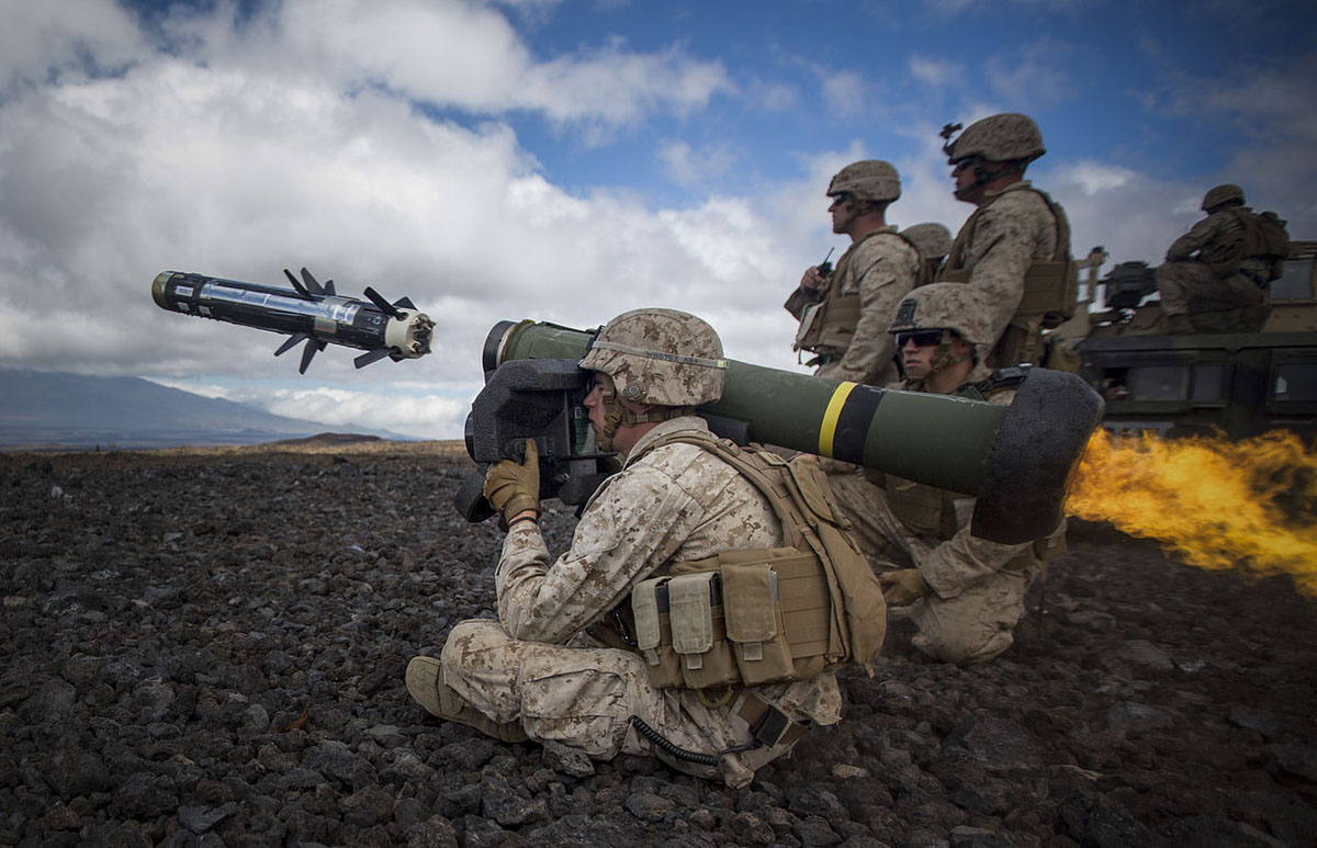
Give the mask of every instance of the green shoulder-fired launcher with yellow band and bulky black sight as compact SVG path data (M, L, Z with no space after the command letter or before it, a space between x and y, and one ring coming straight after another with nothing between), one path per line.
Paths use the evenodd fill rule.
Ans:
M614 470L594 445L577 367L594 333L502 321L485 342L485 388L466 419L479 466L454 506L470 521L494 511L485 469L540 453L540 495L579 504ZM1065 494L1102 413L1073 374L1033 369L1009 407L860 386L728 359L723 396L699 408L710 429L749 441L856 462L939 489L977 495L976 536L1018 544L1056 529Z

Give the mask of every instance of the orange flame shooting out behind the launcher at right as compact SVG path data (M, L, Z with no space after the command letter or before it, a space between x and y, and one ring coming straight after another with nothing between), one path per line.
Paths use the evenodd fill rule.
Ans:
M1158 539L1198 568L1291 574L1317 596L1317 456L1293 433L1231 442L1100 429L1067 512Z

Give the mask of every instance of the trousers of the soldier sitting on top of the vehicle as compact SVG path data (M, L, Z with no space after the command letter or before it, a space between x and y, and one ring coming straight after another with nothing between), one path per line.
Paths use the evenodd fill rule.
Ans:
M1201 262L1166 262L1156 270L1162 311L1185 315L1200 333L1256 333L1271 313L1266 288L1245 274L1216 277Z

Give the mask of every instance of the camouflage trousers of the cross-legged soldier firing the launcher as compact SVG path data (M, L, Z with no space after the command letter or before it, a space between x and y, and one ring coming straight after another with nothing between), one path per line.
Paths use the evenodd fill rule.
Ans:
M531 739L595 760L655 756L680 772L740 787L749 785L755 769L794 745L730 753L718 766L672 756L641 736L631 716L680 748L716 753L752 737L738 715L740 697L706 707L691 690L655 689L644 661L628 650L522 641L497 622L477 619L452 629L440 661L444 682L491 720L520 722Z

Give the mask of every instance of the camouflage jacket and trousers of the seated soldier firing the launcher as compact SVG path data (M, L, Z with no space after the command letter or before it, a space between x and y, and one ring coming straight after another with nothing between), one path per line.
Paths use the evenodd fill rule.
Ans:
M694 690L653 689L637 654L582 644L587 625L669 564L781 544L768 502L712 453L680 442L645 452L680 431L707 427L684 416L648 432L586 504L570 549L557 561L533 523L512 527L494 578L499 619L453 628L443 652L444 682L490 719L520 722L531 739L598 758L657 756L682 772L745 786L756 768L792 745L728 755L710 768L656 749L628 723L637 715L682 748L715 753L751 739L736 715L739 698L709 707ZM832 674L753 691L794 720L832 724L840 718Z

